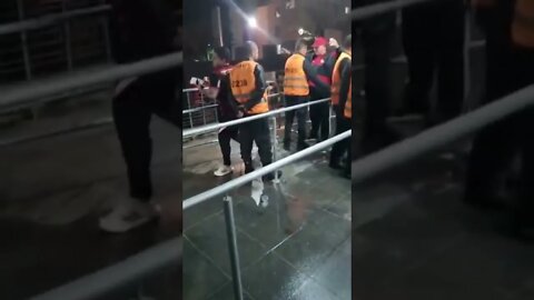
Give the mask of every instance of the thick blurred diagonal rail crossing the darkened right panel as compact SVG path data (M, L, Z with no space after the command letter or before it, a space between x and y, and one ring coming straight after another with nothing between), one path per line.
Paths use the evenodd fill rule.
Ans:
M468 137L532 104L534 104L534 86L357 160L352 166L353 184Z

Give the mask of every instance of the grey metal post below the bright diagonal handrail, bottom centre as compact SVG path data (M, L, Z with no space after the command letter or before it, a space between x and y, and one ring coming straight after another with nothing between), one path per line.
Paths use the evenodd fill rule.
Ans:
M228 252L230 253L231 278L234 283L234 296L236 300L243 300L241 270L239 268L239 252L237 249L236 222L234 218L234 206L230 196L222 200L225 208L226 234L228 239Z

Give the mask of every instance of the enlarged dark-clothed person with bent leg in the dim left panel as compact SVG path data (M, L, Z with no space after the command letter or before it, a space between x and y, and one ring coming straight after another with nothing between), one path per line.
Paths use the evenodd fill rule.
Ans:
M111 0L112 56L117 63L131 63L176 51L171 10L156 0ZM151 140L154 113L181 127L176 98L181 70L178 68L128 78L117 84L113 121L128 171L130 197L122 199L99 226L109 232L125 232L152 220L150 204Z

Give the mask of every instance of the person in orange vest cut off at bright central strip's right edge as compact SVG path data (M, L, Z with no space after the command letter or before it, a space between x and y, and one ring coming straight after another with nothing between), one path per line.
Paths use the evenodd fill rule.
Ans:
M353 118L353 38L349 34L343 44L343 52L339 54L332 74L332 100L338 102L336 107L336 134L343 133L352 128ZM344 176L350 178L350 139L345 139L334 144L330 152L330 168L340 169L339 159L343 153L348 153Z

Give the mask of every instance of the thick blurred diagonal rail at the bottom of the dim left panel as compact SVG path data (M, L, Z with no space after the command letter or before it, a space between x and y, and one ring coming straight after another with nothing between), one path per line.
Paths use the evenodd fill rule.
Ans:
M32 300L87 300L97 299L120 290L127 284L146 278L159 269L179 266L182 257L182 239L174 238L145 250L122 262L82 277L71 283L31 298Z

